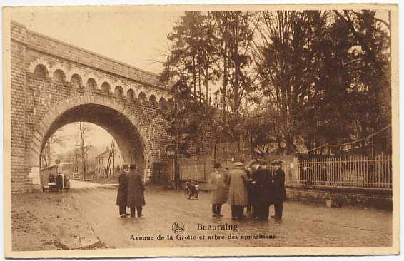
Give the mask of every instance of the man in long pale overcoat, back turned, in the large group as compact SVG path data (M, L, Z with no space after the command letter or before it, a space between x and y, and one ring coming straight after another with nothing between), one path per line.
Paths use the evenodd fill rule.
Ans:
M248 178L243 171L243 163L234 163L234 169L228 173L228 204L231 205L231 218L241 219L244 206L248 205L247 184Z

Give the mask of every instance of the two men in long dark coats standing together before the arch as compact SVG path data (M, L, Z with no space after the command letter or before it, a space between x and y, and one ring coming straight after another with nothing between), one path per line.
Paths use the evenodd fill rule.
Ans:
M126 218L129 214L126 213L126 207L131 210L131 217L140 218L143 206L146 205L144 199L144 184L141 173L136 170L136 165L122 165L121 173L118 178L118 195L116 196L116 205L119 206L119 215L121 218Z

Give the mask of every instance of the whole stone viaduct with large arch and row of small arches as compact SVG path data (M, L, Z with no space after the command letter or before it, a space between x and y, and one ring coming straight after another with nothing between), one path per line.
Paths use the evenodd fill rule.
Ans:
M158 76L11 22L11 191L34 189L40 155L58 128L94 123L141 170L165 162L161 111L170 88Z

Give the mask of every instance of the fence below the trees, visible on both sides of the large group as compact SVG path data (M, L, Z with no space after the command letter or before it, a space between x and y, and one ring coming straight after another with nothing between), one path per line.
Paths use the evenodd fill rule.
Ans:
M181 159L179 165L181 181L206 182L213 172L213 159ZM392 189L390 155L301 160L289 157L283 160L283 170L286 185ZM173 160L168 165L168 180L174 180Z

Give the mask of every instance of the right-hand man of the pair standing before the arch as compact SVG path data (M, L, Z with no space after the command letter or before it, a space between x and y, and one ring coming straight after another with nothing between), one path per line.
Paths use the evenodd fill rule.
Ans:
M128 183L128 207L131 208L131 217L135 217L135 208L138 212L138 217L142 216L143 205L146 205L144 200L144 185L141 174L136 170L136 165L129 166L126 180Z

